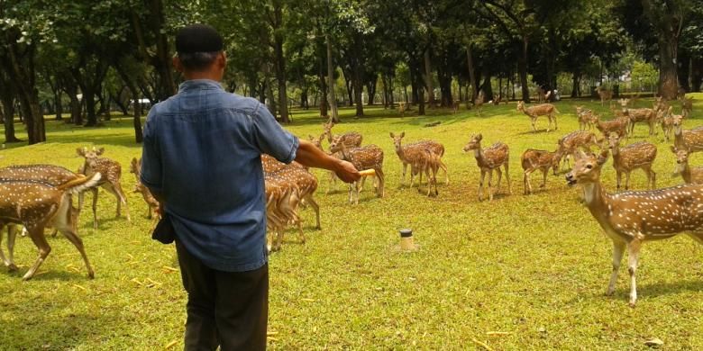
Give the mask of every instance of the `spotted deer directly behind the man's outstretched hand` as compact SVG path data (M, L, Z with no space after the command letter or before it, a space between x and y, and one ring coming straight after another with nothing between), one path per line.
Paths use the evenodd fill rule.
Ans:
M357 170L362 171L366 169L373 169L376 171L376 178L378 179L378 184L376 185L376 194L378 197L383 197L384 193L384 175L383 175L383 150L376 145L367 145L363 148L349 148L342 141L342 136L334 136L332 143L330 144L331 152L342 152L342 159L349 161L356 167ZM353 193L355 194L354 204L359 204L359 181L349 184L349 202L352 203L352 186Z

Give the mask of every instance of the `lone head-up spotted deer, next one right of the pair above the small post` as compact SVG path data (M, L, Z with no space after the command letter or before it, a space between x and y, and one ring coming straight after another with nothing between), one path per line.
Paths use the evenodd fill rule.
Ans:
M481 148L481 134L472 135L469 143L464 146L464 152L473 150L473 155L476 157L476 164L479 165L481 171L481 179L479 182L479 201L483 201L483 181L488 173L488 201L493 200L493 189L491 181L493 179L493 170L498 172L498 185L496 193L500 191L500 178L503 173L500 171L500 166L506 168L507 193L512 193L510 190L510 175L508 174L508 161L510 158L510 150L505 143L498 141L490 146L490 148Z

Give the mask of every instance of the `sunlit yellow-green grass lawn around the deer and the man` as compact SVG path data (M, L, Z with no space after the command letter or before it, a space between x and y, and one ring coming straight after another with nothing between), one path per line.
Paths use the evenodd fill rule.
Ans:
M358 206L349 205L342 187L326 195L327 176L315 171L323 229L312 229L313 213L303 211L307 243L299 244L289 231L282 250L270 257L269 330L277 333L270 349L480 349L474 339L507 350L646 349L649 338L661 338L665 349L702 348L703 247L684 236L645 245L639 301L632 309L626 269L615 296L604 296L611 243L580 204L579 191L567 187L563 175L550 175L545 190L522 194L520 154L525 148L553 149L557 139L578 129L576 103L558 103L560 128L549 133L529 132L529 120L515 103L486 106L482 117L435 109L425 117L400 118L375 108L366 110L369 117L352 119L352 110L343 109L344 122L335 132L360 131L364 143L386 151L386 197L377 199L367 189ZM587 104L609 115L599 103ZM699 103L694 107L686 128L703 124L696 119L703 117L701 109ZM316 115L296 111L287 128L317 135L323 121ZM423 127L431 121L442 123ZM545 122L541 118L538 128ZM76 169L82 159L75 148L95 144L122 163L123 187L132 189L128 165L140 146L133 143L129 119L108 121L101 129L48 121L47 129L49 142L12 146L0 162ZM401 165L388 132L403 130L407 141L443 142L452 182L440 184L438 197L399 187ZM484 145L501 140L510 147L512 195L503 191L493 202L478 202L476 161L461 152L475 132L483 133ZM642 139L659 147L658 186L679 184L661 136L647 138L646 127L637 125L630 142ZM703 157L694 155L691 164L703 164ZM614 179L608 161L608 189ZM635 171L633 187L644 184L644 173ZM174 247L151 240L146 205L139 194L128 195L132 223L114 218L114 198L102 191L100 228L92 229L89 215L80 219L95 280L87 280L68 240L49 238L53 250L41 275L22 282L36 249L29 238L18 239L20 272L0 269L0 349L158 349L172 341L182 347L186 294L178 272L168 268L178 268ZM414 229L419 251L397 252L402 228ZM489 333L495 331L507 334Z

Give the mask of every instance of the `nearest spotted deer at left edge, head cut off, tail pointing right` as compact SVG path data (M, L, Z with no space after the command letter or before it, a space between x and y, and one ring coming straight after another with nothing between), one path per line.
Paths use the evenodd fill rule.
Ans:
M86 264L88 277L95 276L88 262L83 241L77 235L78 211L71 205L69 194L81 193L96 186L100 177L100 173L94 173L59 186L36 181L0 181L0 224L22 224L39 249L37 261L23 276L23 280L31 279L49 256L51 247L44 237L44 228L47 226L59 229L61 234L78 248ZM3 258L5 261L5 257ZM5 261L5 265L11 270L16 269L12 261Z

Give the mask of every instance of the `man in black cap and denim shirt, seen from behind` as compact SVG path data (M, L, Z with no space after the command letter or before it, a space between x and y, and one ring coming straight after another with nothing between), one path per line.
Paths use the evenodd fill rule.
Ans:
M151 108L144 126L142 182L175 231L188 294L186 349L266 348L269 268L260 154L360 175L283 130L266 107L224 91L223 39L210 26L176 36L178 94Z

